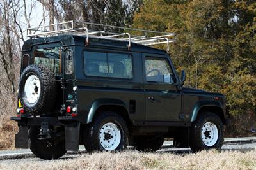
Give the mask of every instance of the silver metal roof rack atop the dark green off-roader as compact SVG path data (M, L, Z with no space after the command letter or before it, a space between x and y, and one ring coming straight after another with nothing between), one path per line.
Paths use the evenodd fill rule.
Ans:
M97 30L95 29L95 27L97 27L98 29L99 27L102 27L102 30ZM132 34L131 32L136 32L136 34L139 35ZM58 24L31 27L27 29L27 37L31 39L60 34L84 35L86 36L86 45L88 45L90 37L128 41L128 48L131 48L131 43L138 43L145 46L166 44L167 52L169 52L169 44L175 41L176 35L175 33L170 32L132 29L128 27L117 27L112 25L95 24L90 22L77 22L73 20L68 22L60 22Z

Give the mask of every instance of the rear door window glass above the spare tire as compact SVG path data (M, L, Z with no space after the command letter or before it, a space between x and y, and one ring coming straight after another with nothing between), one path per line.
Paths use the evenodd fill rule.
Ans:
M34 64L43 64L55 74L61 73L61 45L60 43L33 46Z

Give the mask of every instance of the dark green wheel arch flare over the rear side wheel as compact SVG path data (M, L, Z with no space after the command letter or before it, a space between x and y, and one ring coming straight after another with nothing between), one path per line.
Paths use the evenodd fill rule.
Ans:
M120 99L97 99L93 101L86 123L88 124L92 122L93 118L95 118L101 111L114 111L124 118L127 125L131 123L131 121L129 121L127 106L124 101L121 101Z

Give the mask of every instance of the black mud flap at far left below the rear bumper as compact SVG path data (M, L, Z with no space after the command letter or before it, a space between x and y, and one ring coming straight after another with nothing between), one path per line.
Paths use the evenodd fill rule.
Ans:
M19 127L19 132L15 134L15 148L28 148L28 127Z

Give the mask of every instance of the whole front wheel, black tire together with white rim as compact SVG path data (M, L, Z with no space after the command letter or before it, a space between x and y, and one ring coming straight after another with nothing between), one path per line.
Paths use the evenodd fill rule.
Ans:
M193 152L221 149L223 145L223 123L218 115L201 113L191 127L190 148Z

